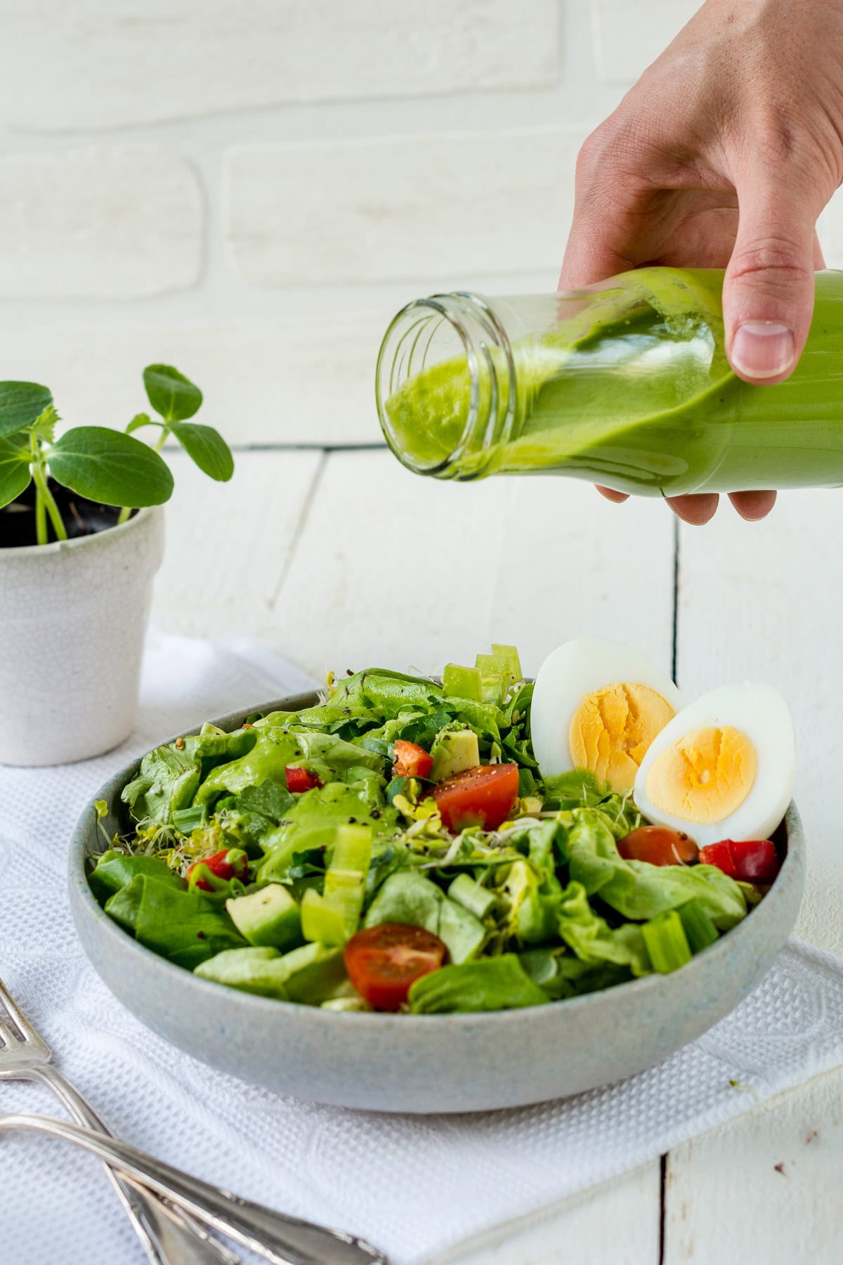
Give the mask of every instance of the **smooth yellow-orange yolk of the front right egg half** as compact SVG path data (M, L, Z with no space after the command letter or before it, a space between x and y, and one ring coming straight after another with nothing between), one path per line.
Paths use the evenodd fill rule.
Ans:
M742 730L695 729L653 760L647 797L671 817L713 825L743 803L757 770L756 749Z

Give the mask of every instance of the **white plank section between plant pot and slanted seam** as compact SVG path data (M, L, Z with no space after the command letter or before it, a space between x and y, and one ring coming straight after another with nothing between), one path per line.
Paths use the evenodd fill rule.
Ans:
M154 622L192 636L260 638L322 454L239 453L230 483L215 483L183 453L168 459L176 491Z

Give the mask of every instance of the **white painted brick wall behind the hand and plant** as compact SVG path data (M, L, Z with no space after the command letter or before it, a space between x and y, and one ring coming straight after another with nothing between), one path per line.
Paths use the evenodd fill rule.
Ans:
M579 140L693 9L0 0L0 377L118 421L173 361L238 443L379 441L389 318L555 286Z

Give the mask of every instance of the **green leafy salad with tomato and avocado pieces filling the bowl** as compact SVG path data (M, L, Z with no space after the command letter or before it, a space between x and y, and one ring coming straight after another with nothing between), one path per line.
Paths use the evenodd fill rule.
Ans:
M682 966L763 888L682 835L676 864L634 859L658 827L631 794L542 779L532 688L494 646L441 684L373 668L158 746L94 893L203 979L334 1011L541 1006Z

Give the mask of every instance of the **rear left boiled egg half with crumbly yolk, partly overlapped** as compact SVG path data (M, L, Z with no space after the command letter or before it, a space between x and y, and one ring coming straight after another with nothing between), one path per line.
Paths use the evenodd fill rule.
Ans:
M536 677L530 725L538 768L546 778L589 769L623 794L679 706L679 689L646 654L608 638L566 641Z

